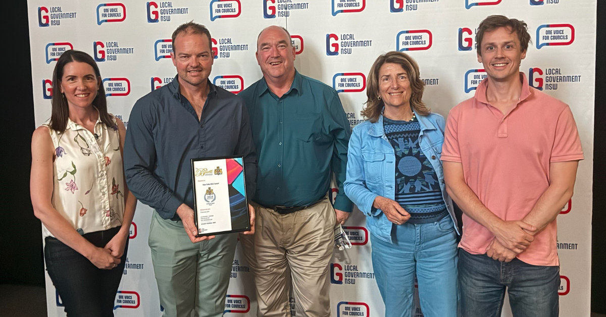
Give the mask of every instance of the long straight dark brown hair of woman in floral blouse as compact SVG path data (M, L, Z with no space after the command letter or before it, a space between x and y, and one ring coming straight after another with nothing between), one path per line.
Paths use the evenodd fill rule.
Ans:
M67 99L61 93L61 79L63 78L63 68L70 62L84 62L93 67L95 70L95 78L99 80L101 73L99 73L99 67L87 53L67 50L57 60L55 70L53 71L53 99L52 112L50 115L50 128L55 130L57 133L63 133L67 128L67 119L70 116L70 107L67 104ZM93 100L93 105L99 111L99 119L108 127L116 125L112 121L112 116L107 113L107 100L105 99L105 89L103 88L103 82L99 83L99 89L97 90L97 96Z

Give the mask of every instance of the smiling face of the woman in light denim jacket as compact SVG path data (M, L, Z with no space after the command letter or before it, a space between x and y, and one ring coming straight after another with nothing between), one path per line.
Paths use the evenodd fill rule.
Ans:
M410 81L402 65L385 63L379 68L379 96L386 107L410 107Z

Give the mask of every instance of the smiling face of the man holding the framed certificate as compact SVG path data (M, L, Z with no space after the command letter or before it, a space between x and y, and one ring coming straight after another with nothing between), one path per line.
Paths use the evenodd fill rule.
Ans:
M177 35L170 58L177 68L179 79L193 86L208 80L214 61L209 42L205 34L185 31Z

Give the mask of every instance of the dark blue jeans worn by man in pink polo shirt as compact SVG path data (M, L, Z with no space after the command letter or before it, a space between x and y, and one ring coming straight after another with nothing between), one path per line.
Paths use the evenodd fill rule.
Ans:
M514 317L558 317L560 268L505 263L459 249L463 317L500 317L505 287Z

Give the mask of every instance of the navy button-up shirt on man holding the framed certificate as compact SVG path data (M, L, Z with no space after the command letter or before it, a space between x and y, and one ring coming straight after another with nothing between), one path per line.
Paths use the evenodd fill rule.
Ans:
M256 184L255 145L242 99L208 82L201 119L178 78L139 99L128 118L124 171L128 189L164 219L178 207L193 209L192 158L244 156L247 195Z

